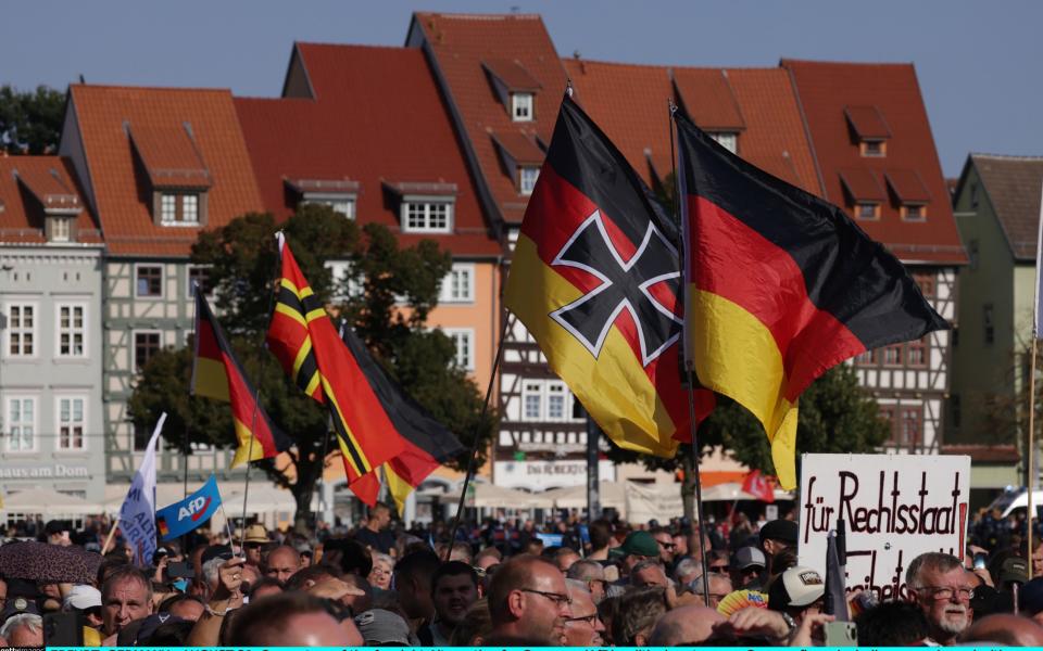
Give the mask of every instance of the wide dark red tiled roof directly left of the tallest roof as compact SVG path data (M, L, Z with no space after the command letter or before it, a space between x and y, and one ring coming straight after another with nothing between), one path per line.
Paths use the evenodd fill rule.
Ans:
M454 233L400 234L400 241L433 239L454 255L499 254L424 53L296 48L316 99L235 99L265 208L284 219L300 190L321 192L315 183L337 182L337 191L355 194L360 222L399 232L399 204L389 192L448 193L455 195Z

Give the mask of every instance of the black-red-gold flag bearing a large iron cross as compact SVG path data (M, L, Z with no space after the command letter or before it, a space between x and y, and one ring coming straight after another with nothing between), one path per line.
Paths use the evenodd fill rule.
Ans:
M566 95L504 303L616 445L659 457L690 437L678 245L648 187ZM714 398L698 396L702 418Z

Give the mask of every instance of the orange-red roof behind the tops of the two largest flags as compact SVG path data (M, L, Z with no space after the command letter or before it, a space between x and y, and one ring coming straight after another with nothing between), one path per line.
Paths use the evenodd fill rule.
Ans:
M808 192L821 193L784 71L575 59L563 64L577 101L650 184L665 179L673 168L666 100L676 97L690 116L693 110L701 116L702 127L739 132L738 153L750 163ZM707 89L713 92L702 92Z

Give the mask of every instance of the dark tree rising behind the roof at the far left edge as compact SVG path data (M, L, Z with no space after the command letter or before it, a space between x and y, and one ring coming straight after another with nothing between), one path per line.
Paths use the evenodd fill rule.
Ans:
M53 154L64 113L65 94L53 88L17 91L0 86L0 150L10 155Z

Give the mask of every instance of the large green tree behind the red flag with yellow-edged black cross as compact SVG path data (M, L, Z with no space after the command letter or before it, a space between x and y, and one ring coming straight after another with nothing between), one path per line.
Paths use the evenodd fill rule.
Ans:
M309 508L326 459L325 408L304 396L286 378L278 362L262 346L273 307L273 282L278 275L278 252L273 237L278 227L267 214L237 218L222 229L200 235L192 261L210 265L214 303L222 326L250 378L260 384L265 409L296 442L290 467L277 470L271 461L260 465L297 500L296 527L307 526ZM455 348L439 331L426 326L437 305L441 279L451 258L430 241L400 248L387 228L359 227L326 206L305 205L282 225L287 240L312 290L353 324L384 368L417 401L452 430L469 448L477 435L488 442L495 429L494 414L481 418L481 396L466 372L453 365ZM327 260L345 260L350 278L338 283L325 268ZM165 432L168 443L184 447L190 441L234 445L228 408L204 398L188 397L190 350L165 350L154 356L130 400L134 419L154 422L160 411L171 412ZM479 445L485 450L486 445ZM479 459L483 462L483 457ZM339 461L336 461L339 462ZM466 455L452 464L465 468Z

